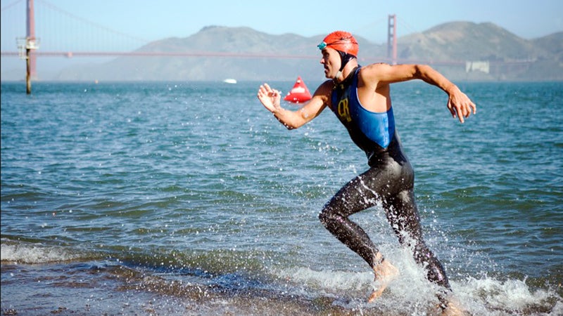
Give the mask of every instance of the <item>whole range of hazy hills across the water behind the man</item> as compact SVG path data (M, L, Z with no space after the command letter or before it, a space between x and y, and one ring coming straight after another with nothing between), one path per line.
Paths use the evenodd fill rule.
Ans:
M65 81L220 81L324 79L322 35L271 35L248 27L204 27L185 38L153 41L95 67L72 67ZM387 47L358 37L360 65L391 62ZM563 80L563 32L526 40L493 23L449 22L398 38L398 63L432 65L453 80ZM151 56L166 53L166 56Z

